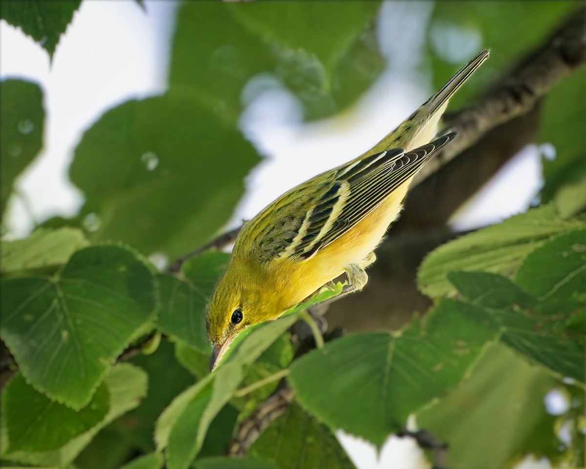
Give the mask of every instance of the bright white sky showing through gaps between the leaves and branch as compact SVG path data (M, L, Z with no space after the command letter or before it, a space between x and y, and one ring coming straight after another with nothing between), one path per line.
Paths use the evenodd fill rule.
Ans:
M0 22L0 77L36 81L45 93L45 147L18 180L18 189L38 222L53 215L74 215L83 203L83 195L67 178L73 149L83 131L109 108L166 88L176 4L151 0L145 4L147 13L134 0L84 0L57 46L51 66L45 50L20 30ZM419 15L418 10L429 13L429 5L390 2L383 6L379 23L386 27L380 28L379 42L383 53L393 57L393 69L381 75L352 111L303 124L295 99L278 87L247 108L241 128L267 158L248 176L248 191L232 224L254 216L295 184L370 148L427 100L432 91L429 84L414 82L409 73L417 66L423 40L419 32L427 21L427 15ZM394 19L398 12L400 23ZM471 39L477 49L482 47L481 39ZM469 51L468 56L474 52ZM539 156L533 145L513 158L461 210L454 225L469 229L522 212L540 183ZM26 205L13 197L9 210L9 235L26 236L33 227ZM358 469L425 467L421 451L407 439L391 437L378 459L369 443L343 435L340 441Z

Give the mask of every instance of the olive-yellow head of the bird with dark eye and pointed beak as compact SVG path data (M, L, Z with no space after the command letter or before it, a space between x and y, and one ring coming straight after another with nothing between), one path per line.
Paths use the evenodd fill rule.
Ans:
M253 271L239 268L231 260L207 305L212 369L240 332L259 322L276 319L287 309L287 295L274 281L253 281L251 277Z

